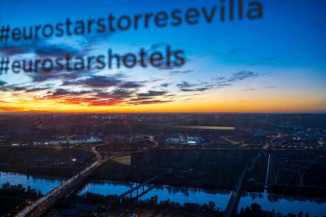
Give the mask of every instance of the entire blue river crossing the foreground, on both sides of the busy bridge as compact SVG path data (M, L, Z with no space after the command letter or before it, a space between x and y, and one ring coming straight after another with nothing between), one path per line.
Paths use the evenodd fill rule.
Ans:
M64 179L51 176L0 172L0 185L6 181L9 181L10 184L21 183L23 187L30 185L32 188L36 188L37 190L40 189L44 194L61 184ZM130 182L91 180L91 182L83 186L78 193L82 194L89 191L100 193L102 195L120 195L136 185L137 183ZM229 190L207 190L201 188L174 187L169 185L151 185L149 189L147 188L147 186L144 188L144 194L142 194L142 188L139 189L138 198L145 199L157 195L159 201L170 198L171 201L180 204L186 202L198 202L201 204L208 203L211 200L214 201L216 207L219 207L221 210L225 210L231 195L231 191ZM133 192L132 196L135 197L136 192ZM309 212L309 216L326 215L326 199L323 198L274 195L266 192L243 192L239 202L238 211L240 211L242 207L245 208L246 206L250 206L252 203L258 203L263 210L274 209L276 212L281 212L283 215L286 215L288 212L298 214L300 211L303 213Z

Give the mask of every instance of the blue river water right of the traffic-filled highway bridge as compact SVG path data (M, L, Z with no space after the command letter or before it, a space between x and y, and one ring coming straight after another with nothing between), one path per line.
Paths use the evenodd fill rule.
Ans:
M137 183L130 182L118 182L118 181L98 181L92 180L86 186L79 191L80 194L87 191L93 193L99 193L102 195L117 194L120 195L133 187L136 187ZM221 210L225 210L231 195L231 191L228 190L207 190L200 188L186 188L186 187L173 187L169 185L153 185L152 189L145 194L140 195L140 199L150 198L157 195L158 201L166 200L170 198L171 201L178 202L180 204L186 202L193 203L208 203L210 200L215 202L216 207ZM142 193L142 188L139 189L139 194ZM132 193L132 196L136 196L136 192ZM288 212L298 214L300 211L306 213L309 216L322 216L326 213L326 199L323 198L309 198L301 196L288 196L288 195L274 195L268 193L254 193L243 192L238 211L240 212L242 207L250 206L252 203L258 203L263 210L272 210L281 212L286 215Z

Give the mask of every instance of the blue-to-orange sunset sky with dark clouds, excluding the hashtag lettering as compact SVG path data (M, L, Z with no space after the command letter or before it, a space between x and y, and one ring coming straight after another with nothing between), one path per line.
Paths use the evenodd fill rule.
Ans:
M154 3L153 3L154 2ZM185 4L185 2L187 2ZM225 1L228 7L228 0ZM237 4L238 0L234 0ZM244 14L251 0L243 0ZM182 11L179 26L0 42L2 57L55 59L183 50L181 67L152 66L0 75L6 112L326 112L326 1L259 1L261 19L219 19L220 1L0 1L0 27ZM207 23L201 8L217 6ZM190 25L184 14L200 10ZM228 9L227 9L228 10ZM237 13L235 13L237 17ZM170 21L170 20L169 20Z

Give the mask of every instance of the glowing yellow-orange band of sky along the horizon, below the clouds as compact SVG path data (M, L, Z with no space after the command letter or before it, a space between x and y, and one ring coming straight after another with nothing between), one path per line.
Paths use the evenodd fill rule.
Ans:
M291 97L241 96L206 94L202 99L177 99L166 103L128 105L119 102L110 106L95 106L91 100L79 104L65 99L35 99L30 94L2 97L0 112L45 112L45 113L109 113L109 112L325 112L325 103L320 98L301 96L300 101ZM33 96L34 97L34 96ZM241 99L240 99L241 98Z

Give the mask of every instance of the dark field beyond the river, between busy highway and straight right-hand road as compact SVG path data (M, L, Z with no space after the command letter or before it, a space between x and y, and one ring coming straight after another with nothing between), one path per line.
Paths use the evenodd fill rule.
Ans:
M99 167L92 178L142 182L165 171L156 184L232 189L255 151L166 149L124 156ZM129 163L130 162L130 163Z

